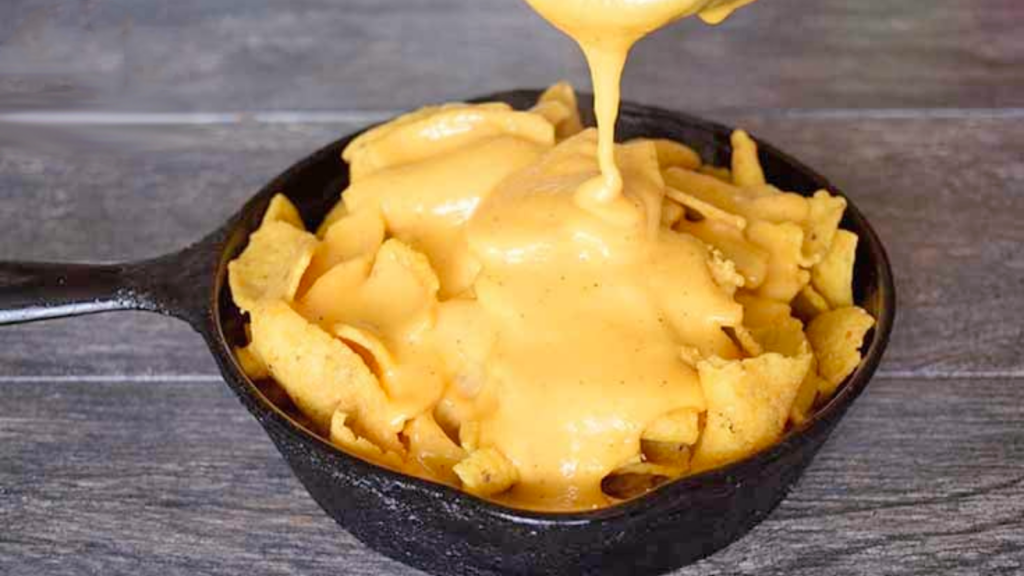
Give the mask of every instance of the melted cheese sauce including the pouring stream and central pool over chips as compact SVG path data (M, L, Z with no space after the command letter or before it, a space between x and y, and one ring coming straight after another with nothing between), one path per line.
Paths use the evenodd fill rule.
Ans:
M475 430L474 449L498 450L518 472L511 490L493 497L583 509L609 503L602 479L641 460L651 422L705 410L682 349L739 356L723 331L742 320L735 286L719 284L702 242L660 225L666 186L655 146L616 146L614 124L634 43L674 19L719 20L745 2L528 1L583 48L599 131L555 146L556 126L537 114L449 106L358 138L345 154L345 209L379 212L392 237L425 254L439 300L426 333L357 314L408 299L401 283L377 283L377 304L355 302L331 322L385 333L399 365L421 351L412 369L381 375L406 407L397 417L436 403L433 416L452 436ZM355 287L316 288L314 299ZM321 307L337 308L327 300ZM440 361L424 360L423 349Z

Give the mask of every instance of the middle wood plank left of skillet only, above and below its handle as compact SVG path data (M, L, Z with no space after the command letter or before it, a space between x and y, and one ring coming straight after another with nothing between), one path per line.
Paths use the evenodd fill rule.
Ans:
M195 242L297 158L353 126L0 133L0 259L119 261ZM148 314L0 330L0 378L214 374L202 339Z

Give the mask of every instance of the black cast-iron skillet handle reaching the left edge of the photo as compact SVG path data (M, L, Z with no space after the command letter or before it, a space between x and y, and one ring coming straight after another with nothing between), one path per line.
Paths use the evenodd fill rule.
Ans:
M134 310L174 316L202 331L215 244L208 239L134 263L0 262L0 325Z

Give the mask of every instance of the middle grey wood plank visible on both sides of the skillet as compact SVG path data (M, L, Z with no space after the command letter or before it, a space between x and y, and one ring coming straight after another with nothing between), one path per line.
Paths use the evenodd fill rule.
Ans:
M719 118L831 177L883 236L900 296L887 373L1024 375L1024 118ZM353 127L77 129L0 141L0 258L119 260L173 250ZM214 368L199 337L158 317L0 330L0 378L39 374Z

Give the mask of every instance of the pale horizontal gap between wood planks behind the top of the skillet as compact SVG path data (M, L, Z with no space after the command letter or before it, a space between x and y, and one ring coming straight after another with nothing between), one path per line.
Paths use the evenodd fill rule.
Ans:
M338 124L380 122L401 114L398 110L338 110L321 112L75 112L33 111L0 113L0 124L33 126L136 126L136 125L230 125L230 124ZM928 109L787 109L729 108L694 111L728 115L794 119L1021 119L1024 108L928 108Z

